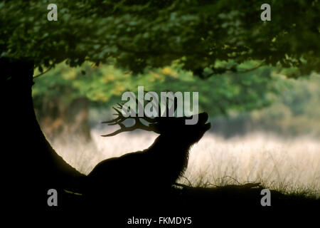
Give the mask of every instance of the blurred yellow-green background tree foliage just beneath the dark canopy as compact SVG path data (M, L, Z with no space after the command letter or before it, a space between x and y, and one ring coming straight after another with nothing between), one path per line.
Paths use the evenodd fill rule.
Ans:
M242 64L242 68L250 68L252 64L255 63ZM69 68L61 64L36 79L33 100L39 107L43 100L63 98L63 102L68 103L78 97L87 97L95 105L110 108L121 101L124 91L137 92L138 86L144 86L145 90L158 93L165 90L199 92L201 109L211 115L220 115L227 114L228 110L252 110L270 104L269 93L277 92L277 79L270 72L271 68L262 67L247 73L224 73L203 81L177 64L137 76L113 66L84 64Z

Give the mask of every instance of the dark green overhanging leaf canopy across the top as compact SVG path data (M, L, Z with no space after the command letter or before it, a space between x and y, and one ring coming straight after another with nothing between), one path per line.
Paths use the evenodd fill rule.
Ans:
M318 0L271 0L272 21L260 20L262 0L64 0L51 22L49 3L1 2L1 56L31 58L40 71L88 60L142 73L178 60L206 78L252 59L296 67L294 77L320 70Z

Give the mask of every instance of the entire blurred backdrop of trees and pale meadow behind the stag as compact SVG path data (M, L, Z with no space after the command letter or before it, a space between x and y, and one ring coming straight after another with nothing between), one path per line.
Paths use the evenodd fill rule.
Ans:
M179 182L207 187L262 182L276 190L320 195L320 75L293 79L287 76L297 73L294 68L283 72L257 65L248 61L240 66L242 73L201 79L179 63L140 74L60 63L35 79L33 102L51 145L87 174L101 160L146 149L157 136L141 130L100 136L114 130L101 122L112 118L112 105L122 93L137 92L138 86L197 91L199 111L209 114L212 127L193 146Z

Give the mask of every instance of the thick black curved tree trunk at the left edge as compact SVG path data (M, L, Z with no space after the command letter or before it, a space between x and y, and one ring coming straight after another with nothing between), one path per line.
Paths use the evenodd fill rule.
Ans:
M77 191L85 175L68 165L43 135L33 110L33 62L0 58L4 113L2 180L9 207L48 208L48 190Z

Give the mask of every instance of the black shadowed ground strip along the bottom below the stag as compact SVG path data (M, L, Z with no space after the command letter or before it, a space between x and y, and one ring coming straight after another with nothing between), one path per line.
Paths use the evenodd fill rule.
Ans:
M190 187L178 185L169 194L151 192L148 197L131 195L124 199L98 195L95 200L86 200L83 195L65 194L63 202L66 214L90 218L102 222L106 227L128 227L128 218L190 217L187 227L257 227L277 224L291 227L298 222L316 224L319 217L320 199L304 194L283 194L271 190L271 206L262 207L259 184L225 185L223 187ZM129 198L127 198L129 195ZM241 226L240 226L241 224ZM137 226L139 227L139 226ZM170 226L151 227L180 227ZM181 226L183 227L183 226ZM308 227L306 225L306 227Z

